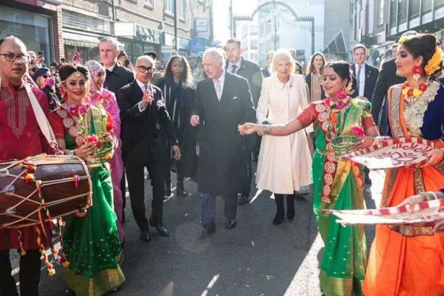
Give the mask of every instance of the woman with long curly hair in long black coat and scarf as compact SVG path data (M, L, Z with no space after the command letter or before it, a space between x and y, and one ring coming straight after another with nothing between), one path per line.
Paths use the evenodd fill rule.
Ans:
M184 178L192 176L193 163L196 157L196 139L194 130L189 125L189 116L196 99L196 90L192 88L193 76L186 58L180 55L173 55L168 61L163 76L157 80L156 85L163 92L165 105L173 122L174 131L182 151L182 158L180 160L172 160L171 146L169 144L166 145L165 196L171 195L170 166L173 161L177 170L176 194L187 196Z

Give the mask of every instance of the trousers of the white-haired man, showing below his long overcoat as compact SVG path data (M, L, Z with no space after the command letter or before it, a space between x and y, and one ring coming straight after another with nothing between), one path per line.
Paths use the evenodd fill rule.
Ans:
M223 214L226 219L236 219L237 215L237 193L222 196L225 199ZM202 224L214 224L216 214L216 195L202 193Z

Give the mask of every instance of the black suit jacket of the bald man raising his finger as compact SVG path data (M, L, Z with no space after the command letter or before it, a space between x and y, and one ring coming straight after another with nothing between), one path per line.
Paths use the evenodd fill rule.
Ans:
M122 118L122 155L125 161L152 161L149 155L154 160L163 161L166 149L160 135L161 127L170 143L178 144L170 116L163 102L162 91L154 85L148 85L148 87L152 89L154 101L143 111L139 109L143 92L136 80L119 90L117 102Z

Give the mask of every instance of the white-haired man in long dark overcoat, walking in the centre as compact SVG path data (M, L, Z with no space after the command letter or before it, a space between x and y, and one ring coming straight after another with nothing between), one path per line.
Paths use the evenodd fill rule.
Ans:
M200 237L216 231L214 223L216 196L225 198L225 227L236 227L237 193L247 190L247 142L237 132L237 125L256 120L247 79L224 70L224 54L210 48L203 56L205 78L197 83L192 126L202 125L200 132L199 185L202 193ZM253 140L253 141L252 141ZM253 143L252 143L253 142Z

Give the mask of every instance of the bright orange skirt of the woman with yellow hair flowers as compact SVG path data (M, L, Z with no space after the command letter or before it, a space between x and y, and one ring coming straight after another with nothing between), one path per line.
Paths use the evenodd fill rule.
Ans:
M426 191L444 187L444 175L422 168ZM386 196L389 172L382 196ZM400 168L386 206L399 205L414 195L413 169ZM383 205L381 205L383 206ZM442 296L444 294L444 234L403 236L377 225L364 280L365 296Z

